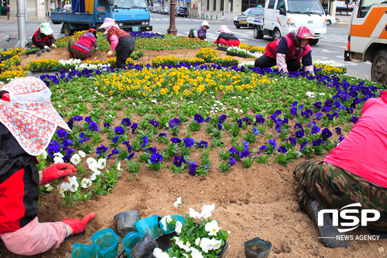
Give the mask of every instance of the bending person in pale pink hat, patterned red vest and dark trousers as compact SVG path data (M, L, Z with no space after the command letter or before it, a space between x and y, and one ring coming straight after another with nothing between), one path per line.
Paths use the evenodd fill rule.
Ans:
M117 24L115 24L114 19L105 18L104 23L100 28L105 29L106 39L110 44L110 50L108 51L108 57L113 56L113 51L115 51L117 59L116 66L121 68L126 66L126 59L129 58L131 53L135 49L135 39L126 31L121 30Z

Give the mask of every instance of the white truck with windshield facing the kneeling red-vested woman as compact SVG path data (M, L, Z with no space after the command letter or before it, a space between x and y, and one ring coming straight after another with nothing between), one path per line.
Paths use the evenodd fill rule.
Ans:
M247 24L253 25L254 38L264 35L280 39L294 28L305 26L316 37L312 44L326 35L326 17L318 0L267 0L261 15L248 15Z

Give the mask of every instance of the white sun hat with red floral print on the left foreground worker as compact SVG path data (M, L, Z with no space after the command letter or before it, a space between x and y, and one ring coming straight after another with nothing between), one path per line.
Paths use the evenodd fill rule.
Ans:
M51 91L36 77L23 77L0 89L0 122L19 145L38 156L50 143L57 127L71 131L51 104Z

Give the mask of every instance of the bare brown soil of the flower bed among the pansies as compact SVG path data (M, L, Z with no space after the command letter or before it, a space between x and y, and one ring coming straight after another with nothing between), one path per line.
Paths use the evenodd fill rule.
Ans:
M149 62L151 57L158 55L193 57L194 53L196 50L144 51L143 57L138 62ZM64 55L66 55L65 50L57 49L52 53L44 53L43 57L60 59ZM220 53L220 56L225 56L225 53ZM30 58L32 57L26 59ZM23 62L26 62L26 59ZM123 111L117 112L116 125L123 115ZM139 122L141 119L138 115L133 116L134 122ZM290 121L291 127L294 124L294 121ZM180 137L185 137L187 133L187 125L184 128ZM267 130L267 133L274 133L274 131ZM171 138L171 135L167 134ZM211 142L211 138L203 129L192 133L192 137ZM129 133L129 140L133 139L134 135ZM228 148L231 147L228 133L223 136L223 141ZM241 142L241 139L239 141ZM104 144L106 142L106 136L104 136ZM158 149L164 147L164 145L155 144L154 138L150 142L151 146L156 146ZM259 147L266 143L267 139L260 134L252 147ZM198 151L191 154L191 160L199 158ZM169 159L169 163L172 159L173 157ZM245 169L243 163L238 162L229 173L223 174L216 167L219 163L218 151L212 151L213 163L207 176L192 177L187 172L175 175L167 169L167 166L164 166L160 172L151 172L144 163L141 163L140 171L132 180L129 179L131 174L126 171L126 163L122 162L123 171L120 181L108 196L93 196L85 203L70 209L61 208L56 193L40 196L42 203L38 213L40 222L81 217L88 212L95 212L97 217L88 224L85 233L68 237L56 250L48 250L32 257L70 258L73 244L91 244L90 236L96 230L113 228L117 232L113 216L125 210L138 210L142 218L154 214L161 216L181 214L180 208L173 207L173 203L179 196L182 197L185 212L188 212L190 207L199 211L202 205L216 204L211 219L220 221L221 228L231 231L228 239L229 247L224 258L245 257L243 243L255 237L272 243L270 258L386 257L385 252L378 251L380 247L387 249L387 243L384 240L350 241L348 249L326 248L318 239L319 231L316 225L308 214L299 211L298 203L295 201L292 171L306 158L297 158L288 167L276 164L272 159L270 158L265 165L254 163L249 169ZM322 160L323 156L316 159ZM135 160L138 161L138 154ZM83 162L86 162L86 158ZM112 163L113 160L108 160L108 166ZM352 234L369 234L369 232L365 228L359 228ZM121 237L120 241L122 241ZM122 249L122 245L119 249ZM21 256L13 255L1 246L0 257Z

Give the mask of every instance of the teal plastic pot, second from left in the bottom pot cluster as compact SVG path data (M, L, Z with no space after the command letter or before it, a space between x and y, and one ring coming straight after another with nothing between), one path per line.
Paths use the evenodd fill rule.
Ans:
M119 240L118 235L111 228L97 231L91 236L91 241L97 248L100 258L114 258L117 255Z

